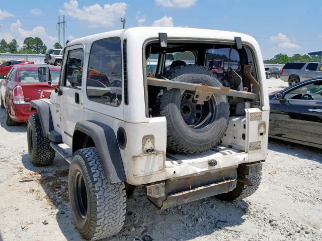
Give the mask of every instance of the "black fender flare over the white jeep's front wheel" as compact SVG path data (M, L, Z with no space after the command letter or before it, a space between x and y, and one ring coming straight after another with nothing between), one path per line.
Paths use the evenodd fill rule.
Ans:
M40 99L35 99L30 101L30 109L37 110L43 134L47 137L48 132L54 130L49 104Z

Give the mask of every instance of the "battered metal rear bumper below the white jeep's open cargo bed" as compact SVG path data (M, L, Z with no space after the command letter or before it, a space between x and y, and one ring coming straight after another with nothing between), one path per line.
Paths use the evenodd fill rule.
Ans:
M262 171L262 163L240 164L236 169L203 176L187 177L177 180L146 185L147 198L159 209L178 206L206 197L227 193L236 188L237 182L252 186L246 177Z

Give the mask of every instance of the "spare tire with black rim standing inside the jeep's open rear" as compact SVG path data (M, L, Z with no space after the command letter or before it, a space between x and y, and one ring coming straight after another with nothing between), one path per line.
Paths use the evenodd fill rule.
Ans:
M160 75L170 80L220 87L210 70L199 65L182 65ZM174 153L206 152L218 145L227 128L229 104L225 95L212 95L197 104L194 92L165 89L160 114L167 118L167 150Z

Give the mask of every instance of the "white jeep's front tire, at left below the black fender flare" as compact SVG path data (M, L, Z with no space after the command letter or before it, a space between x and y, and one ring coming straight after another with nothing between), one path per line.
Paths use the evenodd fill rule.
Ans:
M28 153L34 166L46 166L53 162L55 151L50 147L50 140L44 136L38 113L29 116L27 124Z

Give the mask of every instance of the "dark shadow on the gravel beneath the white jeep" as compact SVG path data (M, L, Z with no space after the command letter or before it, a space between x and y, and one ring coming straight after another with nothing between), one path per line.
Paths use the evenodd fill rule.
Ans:
M26 169L40 175L39 183L52 209L57 209L56 220L66 240L85 240L75 229L70 211L69 164L56 155L51 165L35 167L30 163L28 154L22 155L22 163ZM127 198L124 227L119 234L106 240L143 240L143 235L149 235L153 240L190 240L243 223L248 206L244 200L229 203L210 197L158 210L146 199L144 188L136 188L133 195Z

